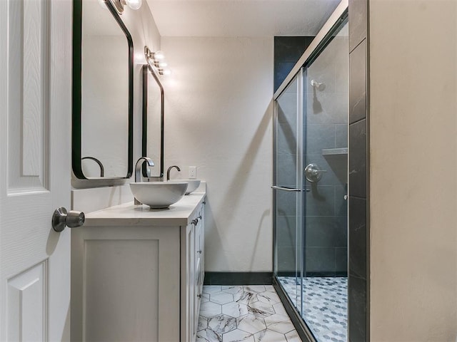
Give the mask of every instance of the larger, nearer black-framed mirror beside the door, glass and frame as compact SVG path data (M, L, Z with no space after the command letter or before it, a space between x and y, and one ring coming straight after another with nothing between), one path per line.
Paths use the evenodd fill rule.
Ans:
M111 0L74 0L72 166L76 178L129 178L133 165L131 35Z

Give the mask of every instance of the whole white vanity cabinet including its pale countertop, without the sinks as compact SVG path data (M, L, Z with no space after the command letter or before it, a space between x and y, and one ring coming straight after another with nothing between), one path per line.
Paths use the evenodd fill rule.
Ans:
M194 342L204 193L169 210L122 204L71 231L71 341Z

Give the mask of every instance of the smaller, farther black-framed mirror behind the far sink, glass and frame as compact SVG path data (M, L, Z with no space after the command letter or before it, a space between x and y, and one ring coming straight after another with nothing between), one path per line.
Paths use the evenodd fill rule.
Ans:
M156 167L151 167L151 175L164 177L164 88L159 77L150 65L143 66L143 139L142 155L147 155ZM159 167L160 162L160 167Z

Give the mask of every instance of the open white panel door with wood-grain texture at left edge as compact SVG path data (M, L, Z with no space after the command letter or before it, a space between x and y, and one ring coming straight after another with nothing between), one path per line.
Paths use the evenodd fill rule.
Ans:
M69 341L71 0L0 0L0 341Z

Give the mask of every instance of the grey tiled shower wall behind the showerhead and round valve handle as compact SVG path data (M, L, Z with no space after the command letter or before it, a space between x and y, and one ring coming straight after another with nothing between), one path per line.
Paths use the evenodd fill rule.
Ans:
M307 69L304 160L326 170L318 183L306 181L307 276L346 276L348 269L348 155L325 152L348 147L347 44L346 26ZM312 87L312 80L325 88Z

